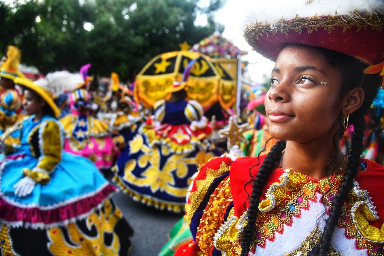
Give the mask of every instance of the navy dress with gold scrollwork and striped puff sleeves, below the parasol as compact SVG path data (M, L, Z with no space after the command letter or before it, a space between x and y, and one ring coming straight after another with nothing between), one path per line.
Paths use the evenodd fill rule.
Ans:
M154 119L128 141L114 167L118 185L143 203L181 211L197 166L218 154L202 112L196 101L157 102Z

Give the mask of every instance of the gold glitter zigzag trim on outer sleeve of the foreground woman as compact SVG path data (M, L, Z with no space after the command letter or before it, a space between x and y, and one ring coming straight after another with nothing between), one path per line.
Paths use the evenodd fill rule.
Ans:
M185 212L187 216L188 225L191 224L192 217L199 208L200 203L203 201L204 196L207 194L209 186L215 180L215 178L229 172L230 165L227 165L224 161L221 163L218 170L207 169L207 177L204 180L198 180L196 182L196 191L190 193L190 203L185 204ZM199 169L200 171L200 169Z

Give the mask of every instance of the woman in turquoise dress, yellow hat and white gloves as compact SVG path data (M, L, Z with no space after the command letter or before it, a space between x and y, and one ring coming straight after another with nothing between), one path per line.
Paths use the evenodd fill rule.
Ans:
M1 160L2 253L126 255L132 229L111 199L116 188L91 161L63 152L57 91L46 79L15 83L31 116L11 128L21 144Z

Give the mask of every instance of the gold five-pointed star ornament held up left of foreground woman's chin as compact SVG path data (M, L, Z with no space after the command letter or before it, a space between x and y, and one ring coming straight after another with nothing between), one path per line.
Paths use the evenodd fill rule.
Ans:
M218 131L222 138L227 137L227 150L235 145L236 142L242 141L245 144L248 144L249 141L244 137L246 131L251 130L249 123L239 125L235 118L232 116L229 117L228 127Z

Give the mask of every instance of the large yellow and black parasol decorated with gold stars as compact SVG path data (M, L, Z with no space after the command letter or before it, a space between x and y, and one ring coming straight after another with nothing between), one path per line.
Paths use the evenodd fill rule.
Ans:
M230 84L231 88L236 87L231 76L212 58L198 52L187 52L186 42L184 45L182 51L157 55L139 72L135 81L137 102L152 107L156 101L168 99L171 93L167 88L171 87L174 81L182 80L184 68L194 59L196 61L191 69L186 89L189 100L196 100L203 107L209 107L219 100L218 88L223 83Z

